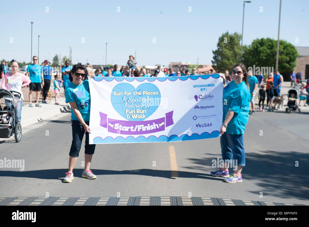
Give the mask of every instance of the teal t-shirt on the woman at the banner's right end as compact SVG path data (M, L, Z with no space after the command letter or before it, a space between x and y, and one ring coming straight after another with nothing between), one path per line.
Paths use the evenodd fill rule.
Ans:
M227 124L226 133L243 134L249 119L250 98L250 91L244 81L239 84L235 84L234 81L231 81L223 89L222 123L229 109L234 112L234 116ZM226 103L224 103L225 100Z

